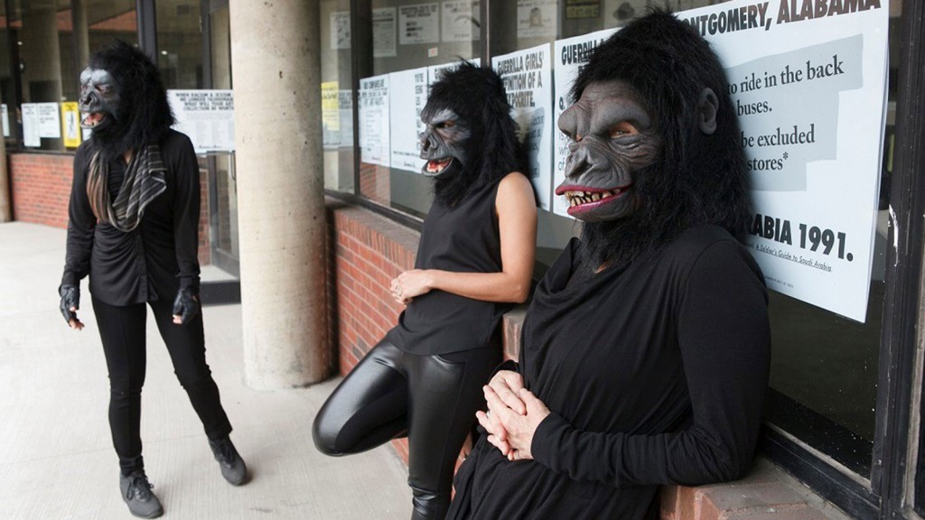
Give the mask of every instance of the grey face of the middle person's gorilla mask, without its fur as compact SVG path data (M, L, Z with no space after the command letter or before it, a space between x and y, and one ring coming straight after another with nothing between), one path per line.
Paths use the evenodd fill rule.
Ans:
M426 130L421 135L421 158L427 161L421 173L427 176L458 175L466 166L466 144L472 136L469 126L450 108L424 110Z

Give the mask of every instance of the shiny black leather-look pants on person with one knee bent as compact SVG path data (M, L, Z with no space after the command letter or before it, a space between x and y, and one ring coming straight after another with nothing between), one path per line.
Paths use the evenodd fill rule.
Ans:
M414 519L442 519L462 442L483 407L482 385L501 357L487 348L403 353L380 341L340 382L314 418L314 445L328 455L363 452L408 436Z

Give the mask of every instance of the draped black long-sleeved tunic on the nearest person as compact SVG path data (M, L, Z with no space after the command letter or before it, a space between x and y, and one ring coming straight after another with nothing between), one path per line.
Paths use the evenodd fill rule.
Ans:
M535 460L509 462L480 440L447 518L657 517L659 485L740 477L751 462L771 342L751 255L704 226L567 286L576 246L524 321L520 371L552 412Z

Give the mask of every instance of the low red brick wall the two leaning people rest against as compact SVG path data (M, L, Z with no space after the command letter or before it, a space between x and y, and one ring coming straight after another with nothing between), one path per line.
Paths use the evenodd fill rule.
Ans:
M328 200L329 337L336 339L339 371L348 374L401 313L388 281L413 267L418 233L364 209ZM504 317L505 356L516 359L524 306ZM334 347L332 347L334 348ZM408 462L407 441L393 441ZM458 461L459 462L459 461ZM758 459L739 481L661 492L662 520L835 520L844 514L792 477Z

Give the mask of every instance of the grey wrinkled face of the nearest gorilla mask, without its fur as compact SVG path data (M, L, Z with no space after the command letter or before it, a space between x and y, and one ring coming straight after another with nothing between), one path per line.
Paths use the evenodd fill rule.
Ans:
M598 81L586 87L559 118L559 129L571 142L565 180L556 194L569 200L569 215L599 222L635 212L635 175L661 152L661 136L653 127L628 83Z

